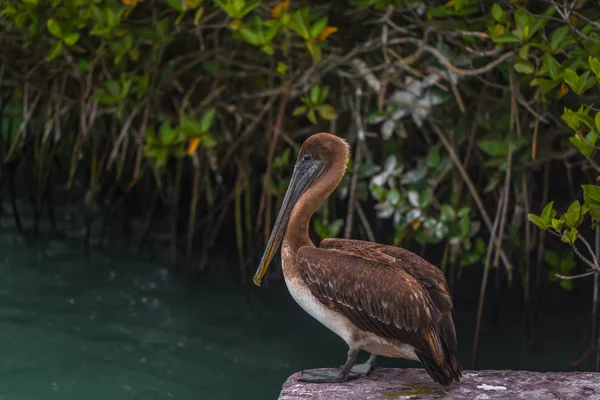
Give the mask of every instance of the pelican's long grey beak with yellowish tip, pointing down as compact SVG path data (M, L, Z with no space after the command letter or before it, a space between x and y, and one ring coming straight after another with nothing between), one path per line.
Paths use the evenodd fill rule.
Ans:
M320 164L313 165L307 171L301 171L298 167L294 169L290 185L288 186L288 190L283 198L283 203L281 204L281 209L279 210L279 215L277 215L277 219L275 220L275 226L273 226L271 236L267 242L267 248L263 253L260 265L254 274L253 282L256 286L260 286L262 278L267 273L267 269L269 268L273 256L281 245L294 206L298 202L298 199L300 199L300 196L302 196L319 175L320 169Z

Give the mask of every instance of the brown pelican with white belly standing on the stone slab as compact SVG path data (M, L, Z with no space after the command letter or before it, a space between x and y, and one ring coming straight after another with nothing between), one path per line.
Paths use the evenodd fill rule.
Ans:
M305 371L300 381L355 379L370 373L376 357L383 356L420 361L444 386L459 382L452 299L440 269L399 247L333 238L315 247L308 236L312 214L339 185L349 156L346 141L329 133L302 144L254 275L260 286L281 245L283 276L296 303L348 345L339 373ZM360 350L370 356L355 365Z

